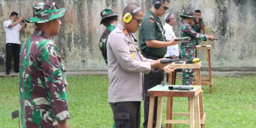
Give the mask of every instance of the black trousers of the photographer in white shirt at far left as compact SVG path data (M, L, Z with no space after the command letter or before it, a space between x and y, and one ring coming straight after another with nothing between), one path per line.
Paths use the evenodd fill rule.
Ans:
M19 72L19 52L20 44L7 43L5 45L6 53L6 72L10 73L12 65L12 56L14 56L14 72Z

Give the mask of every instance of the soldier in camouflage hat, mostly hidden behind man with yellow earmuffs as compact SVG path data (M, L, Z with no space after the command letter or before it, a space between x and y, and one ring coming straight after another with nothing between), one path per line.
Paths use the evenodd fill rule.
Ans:
M101 11L101 24L106 26L106 29L99 38L99 50L101 50L101 54L106 64L108 64L106 42L109 34L117 25L117 17L118 15L111 8L105 8Z

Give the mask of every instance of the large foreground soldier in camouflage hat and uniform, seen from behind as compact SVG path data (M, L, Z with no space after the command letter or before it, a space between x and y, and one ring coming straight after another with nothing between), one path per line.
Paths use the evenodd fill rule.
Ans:
M50 39L59 33L66 8L54 2L33 6L34 33L20 49L20 107L23 128L68 128L66 68L60 50Z

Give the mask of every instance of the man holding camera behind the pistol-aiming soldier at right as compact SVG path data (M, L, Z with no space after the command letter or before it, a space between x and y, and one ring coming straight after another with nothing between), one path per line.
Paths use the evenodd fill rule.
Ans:
M204 30L205 27L205 23L203 21L203 18L201 18L201 11L200 10L196 10L195 11L195 18L191 24L191 27L193 28L193 30L195 30L197 33L200 33L201 30ZM196 39L196 45L198 45L198 40ZM196 50L197 53L197 50ZM195 55L196 57L196 55Z

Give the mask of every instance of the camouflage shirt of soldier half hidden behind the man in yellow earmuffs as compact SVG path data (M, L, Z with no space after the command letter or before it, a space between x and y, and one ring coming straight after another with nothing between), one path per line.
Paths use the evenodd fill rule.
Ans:
M106 26L105 31L102 33L101 37L99 38L99 50L101 50L101 54L106 64L108 64L106 43L108 41L109 34L111 33L111 31L114 30L115 27L116 25L108 24Z

